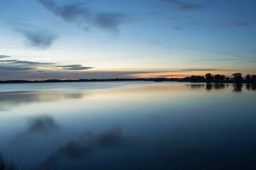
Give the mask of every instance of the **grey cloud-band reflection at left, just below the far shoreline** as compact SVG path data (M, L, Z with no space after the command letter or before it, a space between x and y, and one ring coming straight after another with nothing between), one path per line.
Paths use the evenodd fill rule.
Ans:
M61 99L80 99L83 93L66 93L61 91L8 91L0 92L0 111L27 103L50 102Z

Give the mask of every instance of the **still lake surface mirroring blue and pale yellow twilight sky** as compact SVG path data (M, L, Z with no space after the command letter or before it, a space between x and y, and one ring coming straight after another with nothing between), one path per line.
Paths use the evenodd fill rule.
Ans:
M0 148L36 170L256 169L255 85L0 85Z

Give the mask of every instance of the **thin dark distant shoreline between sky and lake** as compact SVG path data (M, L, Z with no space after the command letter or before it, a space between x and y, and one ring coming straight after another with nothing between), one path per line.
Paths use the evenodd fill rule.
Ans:
M249 83L254 84L256 82L248 82L247 80L241 80L237 82L235 79L229 80L202 80L202 81L190 81L184 78L137 78L137 79L47 79L47 80L6 80L0 81L0 84L18 84L18 83L49 83L49 82L128 82L128 81L145 81L145 82L192 82L192 83Z

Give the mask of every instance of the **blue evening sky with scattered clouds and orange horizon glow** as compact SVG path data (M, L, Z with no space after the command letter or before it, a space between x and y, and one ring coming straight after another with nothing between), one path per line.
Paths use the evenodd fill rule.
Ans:
M256 74L255 0L0 0L0 80Z

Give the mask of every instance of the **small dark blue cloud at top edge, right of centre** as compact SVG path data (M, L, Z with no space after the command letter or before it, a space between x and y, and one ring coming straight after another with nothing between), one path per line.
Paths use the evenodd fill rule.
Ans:
M203 6L196 4L196 3L183 3L178 0L164 0L168 3L170 3L172 6L175 6L180 11L198 11Z

